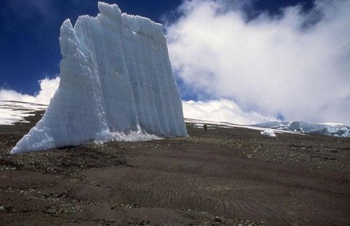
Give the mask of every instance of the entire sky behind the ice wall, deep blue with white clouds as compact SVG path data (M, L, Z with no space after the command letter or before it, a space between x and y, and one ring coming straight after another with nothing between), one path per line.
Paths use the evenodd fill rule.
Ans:
M348 0L106 2L165 24L188 117L350 124ZM94 0L0 1L0 92L50 87L62 22L97 13Z

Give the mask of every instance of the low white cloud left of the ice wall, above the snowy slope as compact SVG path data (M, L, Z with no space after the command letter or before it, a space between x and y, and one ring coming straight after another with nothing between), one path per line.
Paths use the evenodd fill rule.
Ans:
M28 94L21 94L15 90L0 90L0 99L1 100L10 100L10 101L22 101L30 102L36 104L49 104L51 97L55 94L59 86L59 77L56 78L45 78L39 80L40 91L34 96Z

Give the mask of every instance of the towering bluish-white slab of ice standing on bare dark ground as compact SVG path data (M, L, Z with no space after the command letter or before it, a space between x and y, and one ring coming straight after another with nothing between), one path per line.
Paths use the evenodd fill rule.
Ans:
M113 140L113 133L187 136L162 25L98 3L65 20L60 83L48 110L11 154Z

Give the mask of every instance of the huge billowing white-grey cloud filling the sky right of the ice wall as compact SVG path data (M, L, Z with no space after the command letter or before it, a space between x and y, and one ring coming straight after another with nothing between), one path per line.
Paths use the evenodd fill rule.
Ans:
M183 83L243 113L350 124L350 1L316 0L308 12L293 6L250 20L230 2L184 1L183 16L167 26Z

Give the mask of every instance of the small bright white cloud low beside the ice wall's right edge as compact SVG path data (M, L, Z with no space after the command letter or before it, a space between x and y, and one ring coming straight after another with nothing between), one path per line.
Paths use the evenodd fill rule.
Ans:
M276 121L276 118L262 115L256 112L244 112L229 99L212 101L182 101L183 116L200 120L216 122L231 122L248 125L258 122Z

